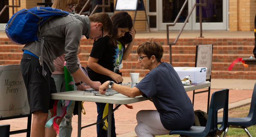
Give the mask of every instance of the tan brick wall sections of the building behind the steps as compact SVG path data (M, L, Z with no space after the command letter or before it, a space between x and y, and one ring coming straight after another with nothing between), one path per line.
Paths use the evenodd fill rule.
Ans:
M15 12L22 8L32 8L41 3L42 0L20 0L20 8L15 8ZM145 8L146 0L143 0ZM14 0L14 4L18 5L18 0ZM114 5L116 0L114 0ZM9 0L9 5L12 5L12 0ZM134 19L135 11L128 11L132 19ZM12 8L9 8L9 17L12 17ZM256 0L229 0L229 29L230 31L252 31L254 17L256 14ZM144 11L137 11L136 20L145 20ZM145 21L136 21L135 29L137 31L146 30Z

